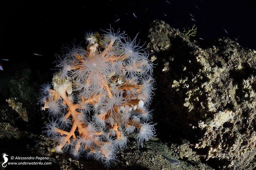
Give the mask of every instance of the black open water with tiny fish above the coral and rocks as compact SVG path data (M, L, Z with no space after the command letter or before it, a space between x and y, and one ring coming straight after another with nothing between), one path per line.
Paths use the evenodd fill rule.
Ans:
M140 32L138 38L145 42L148 25L154 19L164 20L180 31L195 24L194 39L201 47L225 36L256 49L256 11L252 0L6 3L0 6L0 59L25 61L38 69L54 68L55 54L61 54L63 45L76 40L76 45L82 42L84 46L84 34L89 30L103 33L101 30L111 25L132 38ZM8 62L0 62L8 67Z

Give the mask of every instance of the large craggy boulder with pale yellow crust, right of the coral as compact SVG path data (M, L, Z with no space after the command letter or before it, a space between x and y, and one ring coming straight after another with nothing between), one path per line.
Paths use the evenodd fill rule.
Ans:
M253 169L256 51L228 38L200 48L163 21L152 23L149 39L161 137L188 140L188 148L212 168ZM189 157L180 146L180 159Z

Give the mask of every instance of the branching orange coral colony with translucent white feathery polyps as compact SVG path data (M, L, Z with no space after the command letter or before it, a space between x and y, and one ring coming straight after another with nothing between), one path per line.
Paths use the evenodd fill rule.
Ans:
M111 29L102 37L90 34L86 50L74 46L58 57L53 89L43 85L40 98L50 114L44 132L56 140L56 152L70 150L76 158L85 155L110 166L135 129L141 146L154 137L148 110L153 64L136 37Z

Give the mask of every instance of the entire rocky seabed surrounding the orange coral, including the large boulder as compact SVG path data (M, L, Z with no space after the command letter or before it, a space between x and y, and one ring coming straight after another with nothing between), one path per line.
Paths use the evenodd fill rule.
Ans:
M256 52L228 38L207 43L188 39L163 21L150 25L147 46L156 64L151 106L157 136L138 148L131 134L111 169L253 169ZM40 85L51 81L50 70L24 63L5 68L0 75L1 153L51 162L37 169L104 169L95 160L55 153L53 140L42 133L48 114L36 98Z

